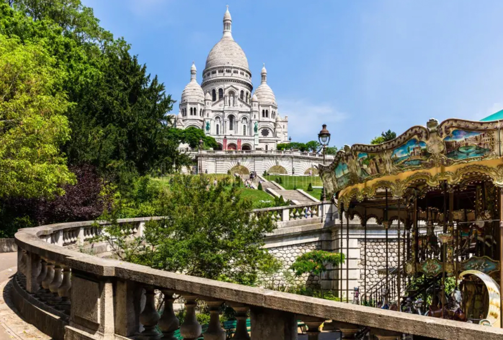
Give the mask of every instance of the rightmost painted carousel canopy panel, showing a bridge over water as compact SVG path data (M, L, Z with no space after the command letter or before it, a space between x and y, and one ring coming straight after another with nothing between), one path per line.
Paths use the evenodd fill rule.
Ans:
M444 139L444 144L447 158L454 161L484 159L494 146L494 133L453 130L452 134Z

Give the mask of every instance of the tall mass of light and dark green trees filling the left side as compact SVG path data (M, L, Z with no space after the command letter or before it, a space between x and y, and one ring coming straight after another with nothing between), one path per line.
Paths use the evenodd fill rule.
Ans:
M0 0L0 39L0 216L15 208L12 225L39 222L38 204L75 184L68 167L132 199L139 176L190 164L171 95L80 0ZM65 199L85 205L85 191ZM32 198L30 211L17 203Z

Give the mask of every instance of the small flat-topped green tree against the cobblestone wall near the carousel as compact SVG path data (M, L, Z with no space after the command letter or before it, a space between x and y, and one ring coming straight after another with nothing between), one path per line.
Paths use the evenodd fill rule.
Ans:
M330 253L324 250L313 250L296 258L290 269L294 271L296 276L302 276L303 274L316 275L321 283L321 274L326 272L326 266L339 266L344 263L345 258L346 257L343 253ZM322 288L321 298L323 298Z

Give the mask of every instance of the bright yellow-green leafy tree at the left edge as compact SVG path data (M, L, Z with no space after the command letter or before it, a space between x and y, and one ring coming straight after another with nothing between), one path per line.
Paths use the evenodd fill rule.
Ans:
M75 182L61 152L70 136L62 76L41 45L0 35L0 197L54 197Z

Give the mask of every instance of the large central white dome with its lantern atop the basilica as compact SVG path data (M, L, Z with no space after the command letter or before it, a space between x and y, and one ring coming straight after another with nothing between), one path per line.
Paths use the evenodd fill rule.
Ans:
M246 55L232 38L231 27L232 19L229 9L227 9L223 17L223 37L208 54L205 69L217 66L235 66L249 71Z

